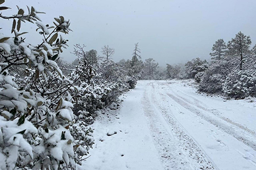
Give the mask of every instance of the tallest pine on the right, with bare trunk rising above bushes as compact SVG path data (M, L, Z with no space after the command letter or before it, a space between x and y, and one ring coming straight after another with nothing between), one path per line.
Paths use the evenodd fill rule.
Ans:
M241 31L236 37L228 42L228 54L240 57L240 70L242 70L243 60L251 45L250 36L244 35Z

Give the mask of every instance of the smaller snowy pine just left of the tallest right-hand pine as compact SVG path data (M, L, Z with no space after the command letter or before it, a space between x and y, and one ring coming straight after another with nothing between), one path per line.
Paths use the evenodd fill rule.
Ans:
M226 43L223 39L218 39L215 44L212 46L212 53L210 53L210 56L212 56L212 59L221 59L226 51Z

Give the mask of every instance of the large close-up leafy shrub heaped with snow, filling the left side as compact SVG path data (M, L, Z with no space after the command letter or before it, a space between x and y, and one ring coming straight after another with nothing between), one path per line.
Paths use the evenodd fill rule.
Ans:
M50 27L40 21L40 13L34 7L28 14L18 8L17 15L1 17L13 19L14 38L0 36L0 169L75 168L69 125L79 94L73 87L77 79L65 78L55 62L67 46L60 33L68 33L70 23L60 16ZM26 32L19 31L26 21L43 35L39 45L24 42Z

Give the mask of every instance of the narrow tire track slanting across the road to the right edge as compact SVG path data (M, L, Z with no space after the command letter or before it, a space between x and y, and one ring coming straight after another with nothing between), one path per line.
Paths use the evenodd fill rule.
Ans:
M229 135L232 135L234 138L236 138L238 141L241 141L245 143L245 145L253 148L253 150L256 151L256 139L247 139L245 135L243 135L242 132L239 134L237 131L233 128L230 128L230 126L223 124L220 121L217 121L215 118L205 115L200 111L200 109L195 108L193 105L181 100L179 97L176 97L172 94L166 93L172 100L174 100L177 104L181 105L181 107L187 109L188 111L196 114L197 116L203 118L204 120L208 121L210 124L213 124L214 126L217 126L222 131L225 131L225 133L228 133Z

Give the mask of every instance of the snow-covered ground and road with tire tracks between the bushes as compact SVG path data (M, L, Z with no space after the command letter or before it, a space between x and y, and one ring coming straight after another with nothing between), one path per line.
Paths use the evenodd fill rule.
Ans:
M100 113L79 169L255 170L256 102L198 94L192 83L139 81Z

